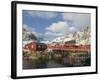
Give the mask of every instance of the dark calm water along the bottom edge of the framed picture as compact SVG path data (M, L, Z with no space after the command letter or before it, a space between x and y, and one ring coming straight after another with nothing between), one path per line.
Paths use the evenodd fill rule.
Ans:
M65 59L66 60L66 59ZM87 64L85 65L83 63L80 63L80 61L77 61L74 65L69 64L68 61L62 61L62 62L56 62L53 60L45 61L38 63L33 60L27 60L23 59L23 69L39 69L39 68L59 68L59 67L74 67L74 66L90 66L90 61L87 61Z

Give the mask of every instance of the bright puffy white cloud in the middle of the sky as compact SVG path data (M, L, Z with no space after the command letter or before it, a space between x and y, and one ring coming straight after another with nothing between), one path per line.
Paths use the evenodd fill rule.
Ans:
M58 37L64 36L70 32L75 32L75 27L70 27L65 21L59 21L57 23L52 23L50 26L46 27L46 36Z

